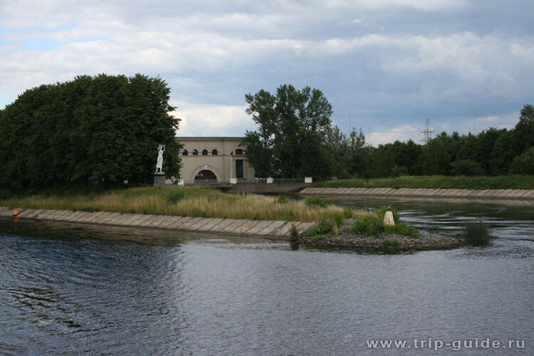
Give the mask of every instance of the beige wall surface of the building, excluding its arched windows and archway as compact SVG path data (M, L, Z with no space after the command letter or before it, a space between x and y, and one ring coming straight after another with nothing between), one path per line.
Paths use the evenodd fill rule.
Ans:
M236 149L244 150L240 145L243 137L177 137L177 140L184 145L183 150L187 150L187 156L183 155L183 150L180 152L183 164L180 175L184 182L194 182L194 177L204 169L214 172L217 182L229 182L236 177L237 159L243 160L243 180L254 182L254 169L244 155L236 155ZM199 154L193 155L194 150ZM202 155L203 150L207 150L208 155ZM217 155L211 155L213 150L217 150Z

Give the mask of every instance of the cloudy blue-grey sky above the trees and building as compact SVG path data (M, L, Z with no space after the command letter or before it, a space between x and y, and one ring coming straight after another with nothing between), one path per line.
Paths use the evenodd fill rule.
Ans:
M179 136L242 136L245 95L320 89L372 145L511 128L534 104L532 0L0 0L0 108L76 75L159 76Z

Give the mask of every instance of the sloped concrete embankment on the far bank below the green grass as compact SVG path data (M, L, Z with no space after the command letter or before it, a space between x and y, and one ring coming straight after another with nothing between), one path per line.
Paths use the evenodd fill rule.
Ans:
M534 200L534 190L527 189L305 188L300 191L300 194L354 197Z

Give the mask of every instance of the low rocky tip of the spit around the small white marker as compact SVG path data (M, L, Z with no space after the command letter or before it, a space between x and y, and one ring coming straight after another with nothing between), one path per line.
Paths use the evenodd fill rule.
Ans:
M454 237L433 234L424 230L418 231L419 238L417 239L398 234L381 234L380 236L375 237L343 233L339 236L335 236L334 234L326 234L319 237L301 236L299 242L304 246L318 248L335 248L380 253L448 250L466 246L464 241L455 239ZM393 244L384 244L384 241L387 240L391 241ZM398 241L398 245L394 241Z

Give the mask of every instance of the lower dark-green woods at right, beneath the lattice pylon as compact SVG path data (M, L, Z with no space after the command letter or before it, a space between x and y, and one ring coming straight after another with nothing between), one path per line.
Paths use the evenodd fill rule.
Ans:
M363 174L357 177L404 175L497 176L534 174L534 109L525 105L512 130L490 127L478 135L441 132L426 145L395 141L364 147Z

